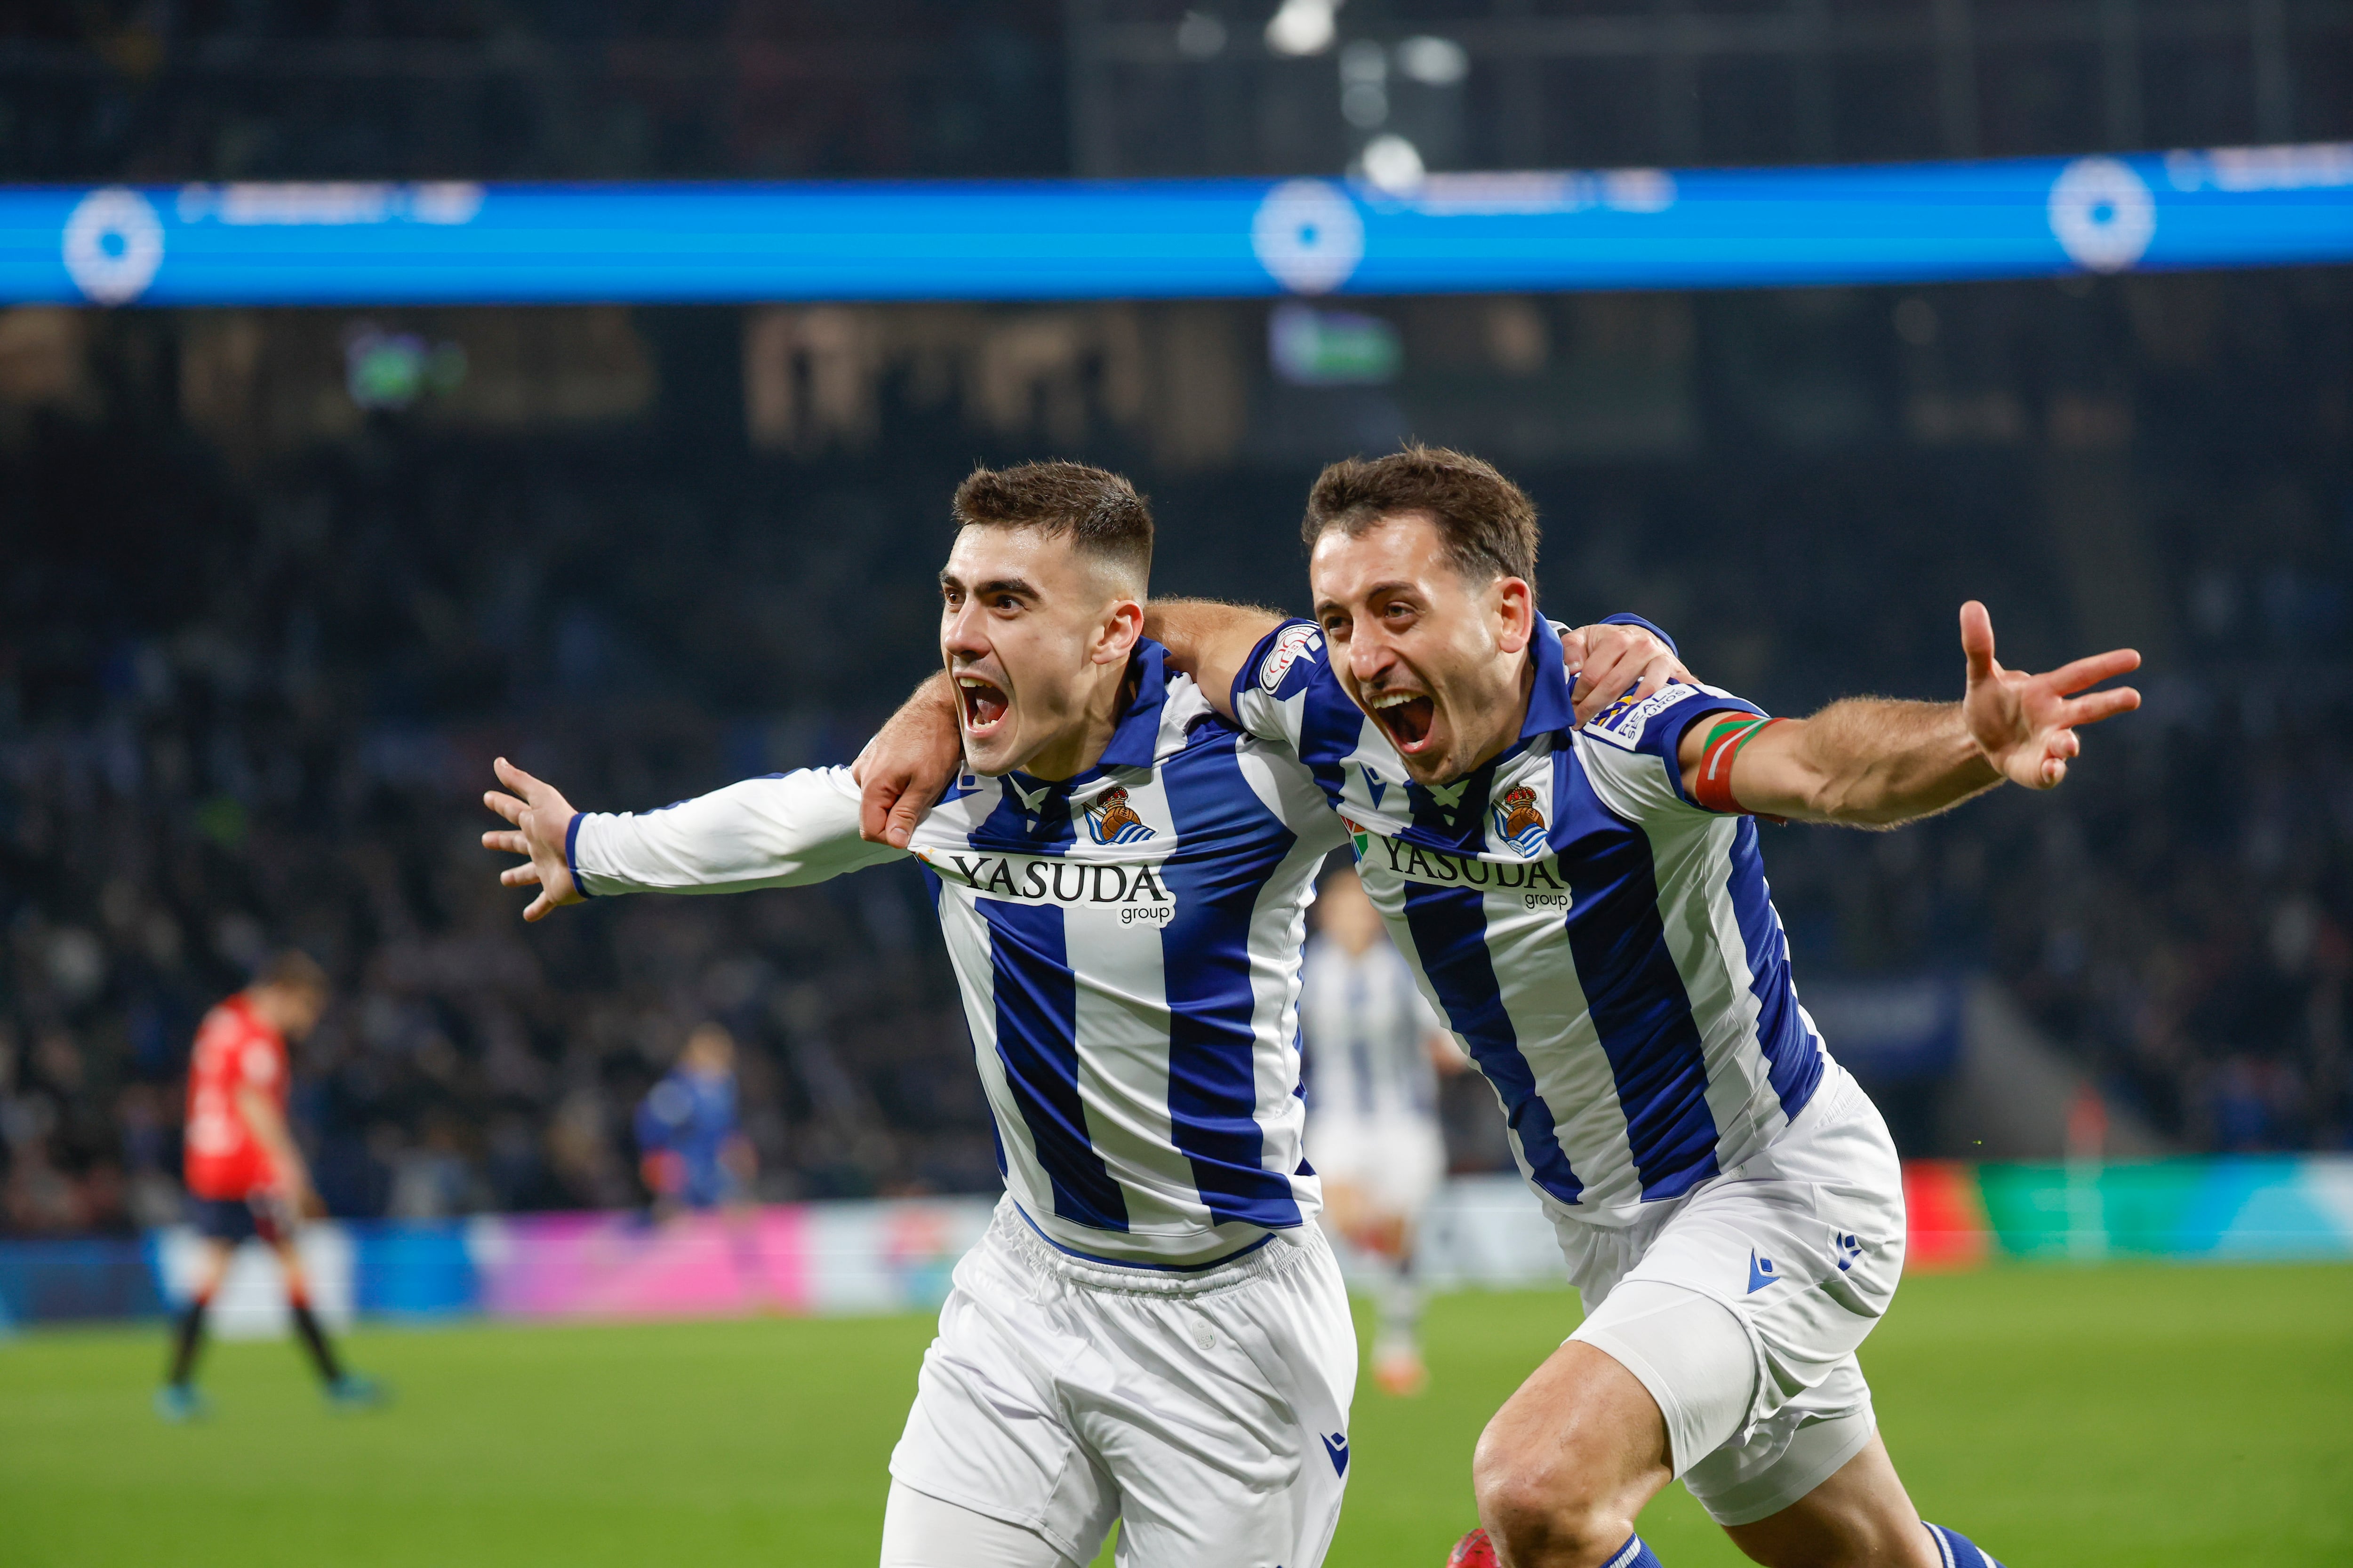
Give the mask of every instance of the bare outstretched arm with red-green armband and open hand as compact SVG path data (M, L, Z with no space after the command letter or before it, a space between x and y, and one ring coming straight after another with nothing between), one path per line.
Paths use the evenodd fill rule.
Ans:
M1812 719L1692 724L1678 752L1685 792L1706 802L1729 785L1729 802L1760 816L1894 827L2005 778L2052 790L2082 750L2078 729L2141 705L2132 686L2073 696L2137 670L2132 649L2049 675L2005 670L1977 599L1960 609L1960 646L1967 693L1958 703L1847 698Z

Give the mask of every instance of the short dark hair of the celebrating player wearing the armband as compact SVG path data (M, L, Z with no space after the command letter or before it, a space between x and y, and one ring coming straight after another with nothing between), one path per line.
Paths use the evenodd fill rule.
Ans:
M1332 463L1308 491L1299 534L1313 550L1329 529L1358 538L1398 512L1435 517L1447 559L1471 581L1537 578L1537 503L1494 463L1445 447Z

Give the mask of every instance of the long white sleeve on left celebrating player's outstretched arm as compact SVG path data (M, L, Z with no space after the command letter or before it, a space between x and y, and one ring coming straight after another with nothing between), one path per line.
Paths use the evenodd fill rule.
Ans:
M744 893L807 886L904 849L859 837L859 785L849 769L802 769L642 813L572 818L572 884L609 893Z

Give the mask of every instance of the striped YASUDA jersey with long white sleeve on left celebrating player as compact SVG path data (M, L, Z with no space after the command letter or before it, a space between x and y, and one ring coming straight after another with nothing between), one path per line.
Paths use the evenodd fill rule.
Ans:
M847 769L581 816L586 893L732 891L922 860L972 1025L1005 1187L1056 1246L1195 1267L1308 1220L1299 947L1344 830L1285 745L1134 658L1101 762L965 776L911 851L859 839Z

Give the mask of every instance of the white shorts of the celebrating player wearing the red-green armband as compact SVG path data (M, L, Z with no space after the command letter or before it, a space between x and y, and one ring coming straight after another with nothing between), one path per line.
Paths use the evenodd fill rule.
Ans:
M1732 1171L1626 1229L1553 1229L1586 1305L1569 1338L1642 1380L1715 1523L1779 1514L1871 1441L1854 1349L1904 1274L1904 1168L1842 1067Z

